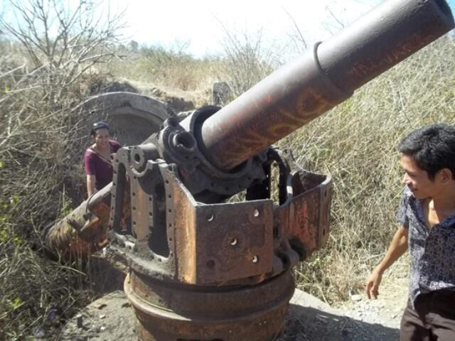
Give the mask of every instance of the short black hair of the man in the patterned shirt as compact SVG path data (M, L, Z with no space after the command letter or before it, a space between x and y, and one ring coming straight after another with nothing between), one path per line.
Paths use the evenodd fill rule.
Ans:
M420 169L427 171L430 180L442 168L449 168L455 179L455 127L432 124L412 131L402 139L398 150L414 158Z

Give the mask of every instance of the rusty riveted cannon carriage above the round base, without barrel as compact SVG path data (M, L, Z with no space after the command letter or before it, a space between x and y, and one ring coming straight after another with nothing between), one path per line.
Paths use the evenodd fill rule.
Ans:
M198 286L250 285L289 269L326 241L331 178L292 171L294 163L271 150L283 173L281 205L274 207L269 183L256 185L254 196L250 188L245 202L205 204L183 185L177 166L134 161L145 155L140 148L117 152L112 185L110 224L119 233L129 179L134 238L119 249L133 269Z

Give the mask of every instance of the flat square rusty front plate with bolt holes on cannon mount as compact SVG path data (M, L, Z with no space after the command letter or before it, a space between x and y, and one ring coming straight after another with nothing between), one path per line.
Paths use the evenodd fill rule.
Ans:
M217 283L272 271L273 202L196 206L198 283Z

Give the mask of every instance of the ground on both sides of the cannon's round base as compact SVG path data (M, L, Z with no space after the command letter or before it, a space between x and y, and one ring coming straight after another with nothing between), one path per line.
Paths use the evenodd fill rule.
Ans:
M407 279L385 278L380 298L353 296L333 308L296 289L287 328L276 341L387 341L398 340L400 318L407 299ZM68 322L60 340L138 340L135 318L122 291L113 291L88 305Z

